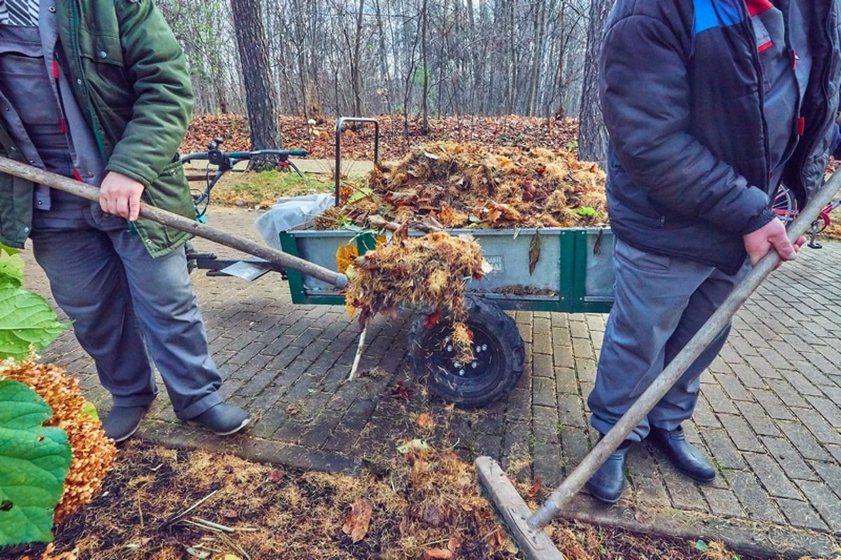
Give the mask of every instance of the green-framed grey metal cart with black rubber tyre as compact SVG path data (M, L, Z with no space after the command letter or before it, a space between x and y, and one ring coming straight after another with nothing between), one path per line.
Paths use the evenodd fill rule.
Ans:
M415 374L442 399L462 406L484 406L514 388L525 364L524 344L516 322L504 309L606 313L611 307L614 235L609 228L449 233L472 235L493 269L482 280L468 280L473 362L454 361L446 319L430 325L428 310L417 310L409 335L410 363ZM373 249L375 236L302 225L282 232L280 243L290 255L337 270L340 246L352 243L362 255ZM344 296L331 284L294 270L286 273L295 304L345 304Z

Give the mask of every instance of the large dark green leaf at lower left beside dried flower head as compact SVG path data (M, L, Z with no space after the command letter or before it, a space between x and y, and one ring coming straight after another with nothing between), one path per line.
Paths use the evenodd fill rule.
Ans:
M50 405L24 383L0 380L0 546L52 541L53 510L70 471Z

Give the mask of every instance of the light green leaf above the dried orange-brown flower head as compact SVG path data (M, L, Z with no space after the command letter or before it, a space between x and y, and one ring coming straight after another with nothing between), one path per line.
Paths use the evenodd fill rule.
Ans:
M40 350L66 327L45 298L0 283L0 357L27 357L30 344Z

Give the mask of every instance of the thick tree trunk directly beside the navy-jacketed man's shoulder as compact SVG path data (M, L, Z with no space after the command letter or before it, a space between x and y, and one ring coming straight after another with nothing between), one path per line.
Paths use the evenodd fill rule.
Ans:
M584 87L579 114L579 159L596 161L601 167L605 167L607 163L607 129L599 104L599 59L603 41L602 29L612 6L613 0L593 0L590 3Z

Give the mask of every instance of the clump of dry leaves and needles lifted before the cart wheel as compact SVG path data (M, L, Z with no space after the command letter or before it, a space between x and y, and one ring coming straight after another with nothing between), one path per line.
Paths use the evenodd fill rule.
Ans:
M374 314L395 314L401 306L431 308L431 321L446 313L453 322L455 359L470 362L473 335L464 324L464 279L481 279L488 270L482 247L469 235L438 231L408 237L400 230L389 242L378 243L376 250L358 256L346 267L347 312L353 316L359 309L362 327Z

